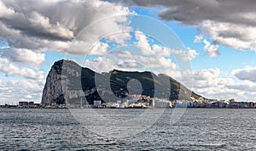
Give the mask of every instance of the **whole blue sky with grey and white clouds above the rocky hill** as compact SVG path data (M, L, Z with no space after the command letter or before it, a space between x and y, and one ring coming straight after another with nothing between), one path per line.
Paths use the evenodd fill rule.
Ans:
M206 98L256 102L255 4L0 0L0 104L40 103L59 59L164 73Z

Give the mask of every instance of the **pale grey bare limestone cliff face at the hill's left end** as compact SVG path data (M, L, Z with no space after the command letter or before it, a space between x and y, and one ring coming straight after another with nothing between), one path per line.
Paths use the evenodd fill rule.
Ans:
M55 62L49 70L44 85L42 104L65 104L67 99L79 98L84 96L82 90L75 90L67 88L69 77L73 79L79 78L79 71L81 67L79 64L71 60L60 60Z

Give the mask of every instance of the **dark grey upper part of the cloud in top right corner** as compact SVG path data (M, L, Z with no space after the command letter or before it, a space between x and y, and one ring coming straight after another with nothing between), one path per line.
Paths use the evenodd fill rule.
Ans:
M252 0L133 0L126 2L142 7L164 7L159 13L161 19L177 20L188 25L198 25L202 20L256 25L255 20L246 20L237 16L242 13L255 13L256 1Z

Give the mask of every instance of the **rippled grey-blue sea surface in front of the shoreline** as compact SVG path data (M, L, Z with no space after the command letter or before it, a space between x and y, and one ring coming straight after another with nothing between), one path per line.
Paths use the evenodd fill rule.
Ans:
M144 112L96 111L116 120ZM143 132L115 138L87 130L69 109L0 109L0 150L256 150L256 109L186 109L171 125L172 112Z

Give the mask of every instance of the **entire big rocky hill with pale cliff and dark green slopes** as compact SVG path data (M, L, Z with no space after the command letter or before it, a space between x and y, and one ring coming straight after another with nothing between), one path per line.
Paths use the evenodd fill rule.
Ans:
M42 104L92 104L116 101L129 94L127 84L132 79L141 83L141 89L133 87L132 92L150 97L175 99L201 98L170 76L151 72L128 72L113 70L109 73L96 73L82 68L71 60L56 61L47 76L42 96ZM206 98L205 98L206 99Z

